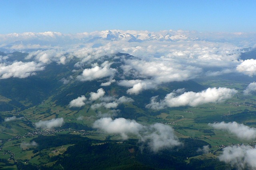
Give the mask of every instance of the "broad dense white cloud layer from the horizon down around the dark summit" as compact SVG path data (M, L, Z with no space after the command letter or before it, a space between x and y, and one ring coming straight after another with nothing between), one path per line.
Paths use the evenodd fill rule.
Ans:
M108 39L108 33L115 38ZM199 35L200 38L195 38ZM0 37L2 37L0 48L10 51L21 51L27 48L29 55L24 60L30 61L6 63L4 57L0 57L0 67L2 67L0 78L26 78L36 74L37 71L44 70L45 66L52 62L68 64L72 59L76 59L78 62L75 66L82 70L80 75L74 77L76 80L92 81L109 78L108 82L102 82L102 86L109 86L113 76L122 69L123 81L132 79L137 81L136 84L126 86L129 88L127 93L132 95L157 88L164 82L236 72L253 76L255 72L253 59L239 61L242 48L248 47L249 44L252 47L255 45L255 42L252 44L249 40L245 41L251 38L246 33L106 30L76 35L50 31L14 33L0 35ZM218 39L220 37L221 39ZM223 41L228 37L232 37L232 41ZM140 41L130 41L131 38ZM243 39L243 43L236 45L231 43L240 42L234 41L236 39ZM112 68L112 63L108 61L104 62L104 55L116 58L117 56L113 54L118 52L129 53L135 58L122 58L120 69ZM88 67L89 63L92 64L91 67ZM129 77L128 80L126 80L127 77ZM122 80L118 81L118 84L123 84Z

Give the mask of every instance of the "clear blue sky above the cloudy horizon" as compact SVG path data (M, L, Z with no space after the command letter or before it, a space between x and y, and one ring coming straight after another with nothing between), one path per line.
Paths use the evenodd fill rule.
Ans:
M255 0L0 0L0 34L107 29L255 32Z

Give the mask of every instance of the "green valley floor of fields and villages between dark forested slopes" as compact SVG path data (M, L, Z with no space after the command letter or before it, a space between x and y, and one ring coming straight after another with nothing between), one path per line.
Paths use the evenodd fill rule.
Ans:
M151 125L154 123L164 123L170 125L175 130L175 135L180 139L198 139L208 143L211 148L211 153L193 156L190 159L216 159L220 154L220 146L236 145L240 143L250 143L253 141L238 139L236 136L229 134L226 131L214 130L208 123L214 122L231 122L244 123L251 127L256 127L256 96L243 96L245 82L231 80L198 80L201 85L206 87L227 87L235 88L238 94L233 98L223 103L204 104L198 107L174 107L166 108L160 111L152 111L145 109L144 103L123 104L122 110L118 113L126 119L135 119L143 125ZM65 88L63 88L65 89ZM164 90L169 90L164 87ZM109 94L116 95L118 89L110 90ZM0 96L1 97L1 96ZM68 106L60 106L56 101L52 100L53 96L44 100L39 105L19 111L18 114L22 119L5 122L1 124L2 131L0 132L1 150L0 159L8 160L9 164L2 163L3 169L16 169L14 161L20 161L29 164L53 166L56 160L51 160L51 157L65 155L66 150L74 144L60 145L49 147L47 149L34 151L37 146L28 146L26 149L21 148L22 143L30 143L39 135L80 135L89 139L99 140L96 145L105 143L106 139L112 141L122 141L118 134L106 134L96 129L92 129L91 125L99 117L98 114L109 113L111 109L100 107L91 109L90 104L86 104L81 108L72 108ZM3 98L1 102L8 102L8 99ZM97 103L96 101L95 103ZM121 107L120 107L121 108ZM12 117L16 112L1 112L2 119L4 117ZM46 131L45 129L35 129L34 123L38 121L46 121L53 118L64 118L66 125L70 125L67 129L56 128L59 131ZM79 118L79 119L78 119ZM84 128L87 128L83 130ZM72 129L73 128L73 129ZM76 129L78 128L78 129ZM37 133L35 133L37 132ZM29 134L33 135L29 135ZM39 133L39 135L38 135ZM17 137L19 134L19 137ZM138 139L136 135L129 135L130 139ZM214 153L214 154L213 154ZM50 162L49 162L50 161ZM52 161L52 162L51 162Z

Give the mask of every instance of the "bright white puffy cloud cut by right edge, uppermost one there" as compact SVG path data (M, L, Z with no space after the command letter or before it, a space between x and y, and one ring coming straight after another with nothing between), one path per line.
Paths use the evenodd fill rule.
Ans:
M256 60L245 60L236 67L236 70L238 72L243 72L246 75L254 76L256 75Z

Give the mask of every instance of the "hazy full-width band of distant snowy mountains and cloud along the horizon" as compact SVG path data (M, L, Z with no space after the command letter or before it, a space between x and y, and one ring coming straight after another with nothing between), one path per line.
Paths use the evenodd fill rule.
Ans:
M100 47L110 42L120 41L122 43L172 43L172 42L213 42L232 43L241 46L240 42L247 47L254 45L254 34L237 33L199 33L196 31L174 31L163 30L159 32L150 31L123 31L105 30L84 32L76 34L65 34L60 32L25 32L0 34L0 51L12 53L15 51L31 52L36 50L47 50L54 48L72 49L83 48L88 44L92 48ZM246 43L247 42L247 43ZM58 46L58 47L57 47ZM138 46L138 45L137 45ZM244 46L244 45L243 45ZM246 47L246 46L245 46Z

